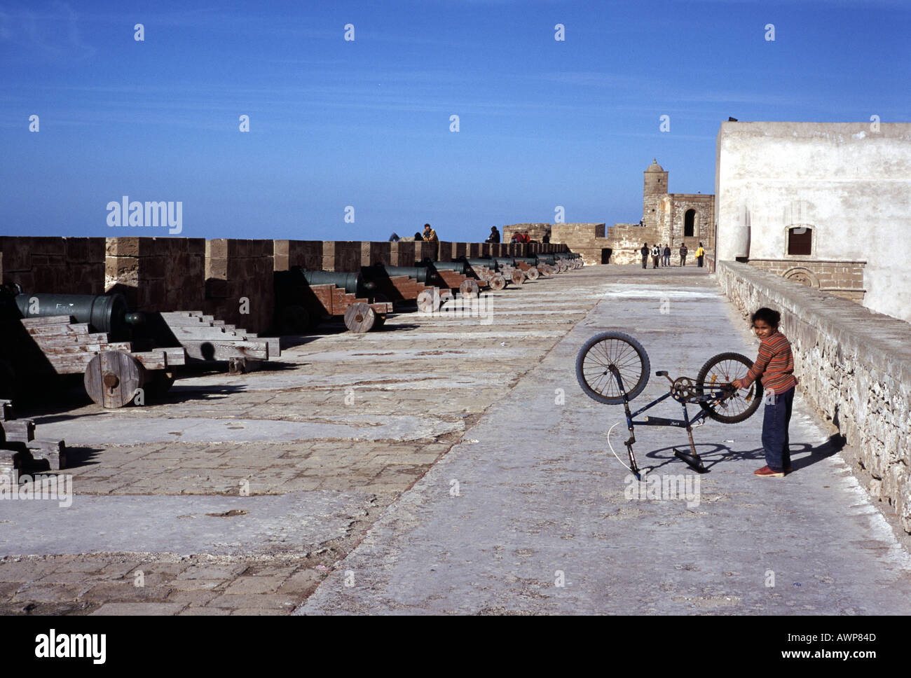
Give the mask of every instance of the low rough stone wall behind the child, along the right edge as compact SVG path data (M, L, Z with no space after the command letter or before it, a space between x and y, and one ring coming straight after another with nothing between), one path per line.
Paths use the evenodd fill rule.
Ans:
M717 276L744 316L781 312L799 388L911 533L911 325L746 264L720 261Z

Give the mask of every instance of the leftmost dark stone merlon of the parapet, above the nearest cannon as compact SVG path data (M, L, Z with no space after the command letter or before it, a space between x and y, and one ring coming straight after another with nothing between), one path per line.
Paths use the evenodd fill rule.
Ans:
M0 282L24 292L104 294L105 238L0 237Z

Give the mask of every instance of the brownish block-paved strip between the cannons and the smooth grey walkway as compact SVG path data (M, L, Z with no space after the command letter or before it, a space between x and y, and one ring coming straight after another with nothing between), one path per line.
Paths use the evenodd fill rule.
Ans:
M145 407L76 389L17 412L67 440L76 496L0 502L0 613L290 612L585 317L600 278L507 288L489 323L404 313L286 338L259 372L181 378Z

